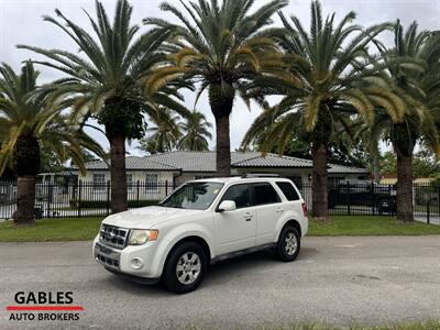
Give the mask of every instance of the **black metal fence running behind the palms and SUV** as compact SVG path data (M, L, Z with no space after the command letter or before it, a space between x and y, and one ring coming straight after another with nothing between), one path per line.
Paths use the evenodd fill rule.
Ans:
M128 184L129 208L155 205L180 183L134 182ZM311 185L299 190L312 212ZM440 185L414 184L415 218L440 222ZM16 208L16 183L0 182L0 219L10 219ZM92 217L111 212L110 183L37 183L35 215L37 218ZM340 216L394 216L394 185L370 182L340 183L329 188L329 212Z

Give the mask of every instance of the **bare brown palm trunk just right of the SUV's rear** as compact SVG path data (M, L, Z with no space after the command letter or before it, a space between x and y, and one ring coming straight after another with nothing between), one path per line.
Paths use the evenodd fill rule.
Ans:
M324 143L314 143L314 168L311 173L311 201L315 220L327 221L328 206L328 170L327 146Z

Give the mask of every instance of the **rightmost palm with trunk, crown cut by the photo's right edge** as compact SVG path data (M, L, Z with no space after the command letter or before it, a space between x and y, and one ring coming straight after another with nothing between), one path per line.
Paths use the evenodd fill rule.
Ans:
M373 140L391 141L397 155L397 219L413 221L413 154L418 142L424 142L439 154L439 132L436 122L440 110L440 36L417 31L411 23L406 33L399 21L394 24L395 44L386 48L376 42L384 58L384 69L389 75L396 94L405 100L406 111L402 122L395 123L378 111L371 128Z

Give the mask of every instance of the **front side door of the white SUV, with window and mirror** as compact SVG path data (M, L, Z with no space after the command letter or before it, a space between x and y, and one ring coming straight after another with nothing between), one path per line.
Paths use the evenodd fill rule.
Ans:
M223 200L235 201L233 211L219 212ZM256 215L252 207L249 184L227 188L215 211L217 254L226 254L255 245Z

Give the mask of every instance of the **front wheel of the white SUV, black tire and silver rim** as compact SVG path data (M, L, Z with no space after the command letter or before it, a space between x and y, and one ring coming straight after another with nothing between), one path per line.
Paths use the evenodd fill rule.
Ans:
M204 249L195 242L177 245L165 263L163 282L176 294L195 290L202 282L208 267Z

